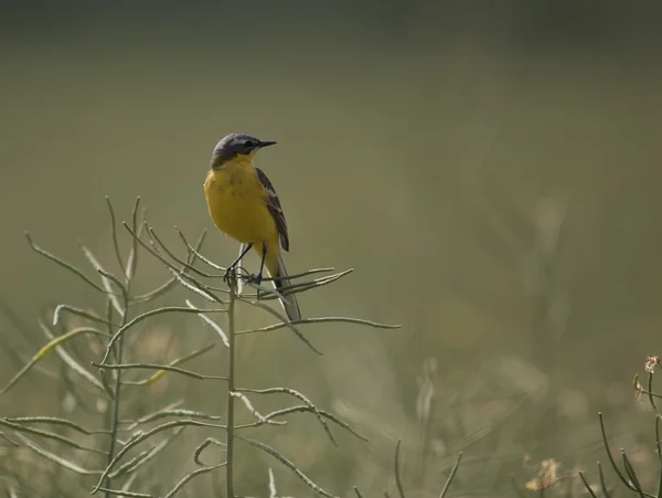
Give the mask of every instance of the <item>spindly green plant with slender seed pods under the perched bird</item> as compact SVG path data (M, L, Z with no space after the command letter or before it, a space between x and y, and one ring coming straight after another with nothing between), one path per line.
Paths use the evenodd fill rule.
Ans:
M227 279L224 279L225 268L200 252L204 233L191 244L178 230L185 250L184 257L178 256L148 225L145 210L142 212L139 210L139 199L134 206L131 222L124 223L124 227L131 236L130 250L125 259L117 233L115 212L108 199L107 206L113 229L111 243L119 272L107 271L108 266L103 265L89 248L82 245L82 251L96 269L98 278L88 277L78 267L38 246L28 235L28 241L36 253L73 273L92 290L99 293L106 301L106 307L103 312L98 312L58 304L49 317L50 322L40 321L40 328L46 338L45 345L3 386L1 393L4 394L14 388L28 372L39 368L43 360L55 353L63 365L61 380L67 385L67 392L74 400L67 410L70 416L66 417L0 417L0 428L2 428L0 439L4 441L2 447L7 448L7 452L0 453L2 462L0 488L3 487L11 497L19 496L20 492L35 496L39 489L47 489L53 496L64 496L65 491L58 489L57 483L68 481L71 475L78 475L81 487L92 495L170 498L186 489L197 476L225 468L224 489L215 489L214 495L234 498L242 496L242 490L237 490L235 477L237 465L235 449L237 445L247 445L282 464L316 494L325 497L334 496L316 484L295 462L288 459L277 448L249 437L247 433L263 425L285 425L287 421L284 417L288 414L309 413L316 417L333 444L337 442L331 427L340 427L362 439L363 436L332 413L319 409L308 396L295 389L275 386L258 390L237 385L235 362L237 341L248 335L287 328L311 351L321 354L301 332L301 326L320 322L359 324L383 329L398 326L346 317L305 318L289 321L281 312L267 306L266 301L287 299L296 293L335 283L351 273L351 269L328 275L332 268L320 268L291 275L290 279L293 283L280 288L279 292L252 284L241 265L228 274ZM134 289L141 250L164 265L171 273L171 278L151 292L137 294ZM317 275L325 276L313 277ZM225 283L225 280L227 280L226 285L214 285L215 282ZM265 280L269 279L265 278ZM162 296L177 286L183 286L210 305L199 307L190 300L185 301L185 306L156 305ZM278 321L263 328L239 330L236 319L238 305L266 312ZM163 314L197 315L216 332L217 340L201 349L182 352L178 359L168 363L127 362L128 348L134 352L135 341L140 337L139 332L145 321ZM225 317L224 326L212 318L218 315ZM89 348L86 352L81 352L78 348L78 341L82 339L87 339ZM160 342L159 339L156 343ZM228 360L227 364L222 364L223 372L203 374L184 368L186 362L209 354L218 345L227 348ZM94 360L90 361L90 358ZM90 369L89 364L95 369ZM132 377L136 372L143 371L151 374L138 379ZM134 385L138 389L152 386L162 381L166 375L181 375L191 382L209 384L209 392L223 399L225 416L190 410L183 405L183 401L177 401L156 410L153 405L148 404L149 413L131 418L130 410L127 409L128 386ZM86 401L89 399L89 393L97 396L94 407ZM255 409L253 399L270 394L286 394L298 404L270 413L260 413ZM238 423L236 417L238 406L235 405L243 406L250 413L253 422ZM89 428L78 422L79 412L84 411L99 420L100 428ZM168 483L162 477L158 480L150 479L148 470L156 462L162 462L162 459L157 460L157 457L167 452L169 445L183 431L190 432L195 427L206 428L217 434L217 436L200 437L191 455L195 468L179 476L173 483ZM195 436L189 434L188 437ZM64 475L60 471L64 471ZM34 477L39 474L50 476L46 478L49 483L40 484ZM396 476L399 484L397 458ZM74 492L79 496L77 491ZM269 494L277 496L270 470Z

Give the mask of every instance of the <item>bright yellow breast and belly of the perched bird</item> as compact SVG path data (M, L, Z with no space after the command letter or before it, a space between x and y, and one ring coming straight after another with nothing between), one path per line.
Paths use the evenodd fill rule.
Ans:
M223 233L245 244L278 241L278 227L266 203L267 192L249 162L229 161L211 170L204 194L210 215Z

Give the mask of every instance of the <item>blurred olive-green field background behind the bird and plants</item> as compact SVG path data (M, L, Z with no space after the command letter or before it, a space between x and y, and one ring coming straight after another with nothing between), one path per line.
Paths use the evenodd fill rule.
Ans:
M303 416L263 441L341 496L394 492L397 439L415 496L438 496L460 451L451 495L503 496L547 458L559 474L589 465L595 480L602 411L615 447L656 479L631 379L659 352L662 320L660 14L653 2L542 0L3 2L0 384L45 342L49 306L103 312L23 231L88 274L78 241L116 269L104 195L120 220L140 195L164 241L178 243L173 225L191 239L209 229L204 253L227 263L237 245L213 230L202 182L216 141L244 131L279 142L258 165L290 225L290 272L355 268L303 295L303 314L403 325L311 326L322 358L282 330L245 340L242 384L299 389L370 444L333 447ZM139 289L167 276L141 255ZM246 308L239 321L269 318ZM129 357L164 361L213 337L194 317L162 316ZM89 346L77 353L98 360ZM191 368L223 369L225 353L210 354ZM61 370L44 362L0 396L0 415L103 422L93 394L87 411L72 404ZM223 411L211 383L132 389L127 416L179 399ZM193 468L213 432L184 434L136 490L164 495ZM9 446L4 481L25 496L89 489ZM237 492L265 496L274 467L280 492L310 494L266 455L238 457ZM216 496L223 479L182 496Z

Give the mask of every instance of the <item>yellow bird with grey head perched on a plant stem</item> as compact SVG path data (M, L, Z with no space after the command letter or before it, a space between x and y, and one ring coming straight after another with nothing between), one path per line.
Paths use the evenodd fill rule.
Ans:
M246 244L239 257L227 267L226 276L253 247L261 258L254 282L260 284L266 267L274 286L280 289L290 285L280 253L281 246L289 251L287 223L274 186L263 170L253 166L257 151L275 144L245 134L223 138L212 153L204 195L216 227ZM293 294L280 303L290 320L301 318Z

